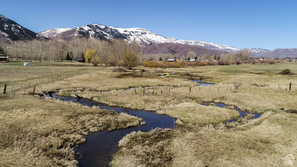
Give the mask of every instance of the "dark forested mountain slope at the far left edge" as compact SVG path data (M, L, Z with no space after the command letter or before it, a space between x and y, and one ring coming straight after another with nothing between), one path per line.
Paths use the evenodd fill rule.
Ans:
M41 35L20 26L3 15L0 15L0 38L5 42L13 42L16 40L32 40L43 39Z

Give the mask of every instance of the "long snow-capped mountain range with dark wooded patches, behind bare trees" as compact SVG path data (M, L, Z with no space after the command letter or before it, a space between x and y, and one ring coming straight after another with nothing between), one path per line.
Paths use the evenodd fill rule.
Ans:
M61 32L59 32L61 31ZM207 49L217 49L220 51L236 52L238 49L227 45L215 44L212 42L203 42L198 40L177 40L173 37L166 38L153 33L147 29L141 28L115 28L103 26L100 24L89 24L74 29L47 29L38 34L53 40L70 41L73 37L96 37L103 40L112 41L114 38L123 38L126 41L135 40L139 45L149 46L158 43L182 43L189 45L198 45Z

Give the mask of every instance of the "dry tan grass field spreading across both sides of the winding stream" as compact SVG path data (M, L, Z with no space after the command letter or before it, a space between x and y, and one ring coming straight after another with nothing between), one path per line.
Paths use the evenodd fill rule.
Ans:
M0 68L3 67L0 65ZM68 73L85 67L59 68L51 70ZM114 155L110 166L285 166L283 158L288 154L296 155L297 75L279 74L285 69L297 73L296 63L144 68L151 73L136 75L142 68L127 73L112 72L112 68L107 68L44 83L38 88L44 92L59 91L64 96L75 96L74 92L68 91L80 91L75 93L101 103L156 111L177 119L178 127L173 130L156 129L125 136L119 142L120 151ZM157 76L163 72L176 75ZM26 73L20 71L20 74L29 76ZM47 76L46 72L29 73ZM5 76L4 82L19 82L13 78L17 76ZM216 84L199 87L186 79ZM235 91L233 82L243 85ZM292 83L291 90L289 83ZM41 164L52 157L55 158L47 166L75 166L70 146L83 142L82 134L124 128L141 121L116 113L110 118L104 110L75 103L39 99L29 95L32 89L27 88L26 95L23 95L24 89L18 89L16 94L0 94L1 118L4 118L0 123L1 140L4 140L0 146L1 166L14 166L14 162ZM201 105L203 102L224 103L230 108L204 106ZM238 118L234 106L262 116L239 120L241 123L232 125L223 124ZM51 155L42 150L40 141L45 135L53 138L49 139L52 141L48 148L53 150ZM63 135L66 137L61 137ZM62 140L63 149L59 149ZM23 158L15 161L15 156Z

